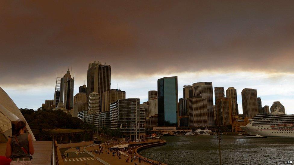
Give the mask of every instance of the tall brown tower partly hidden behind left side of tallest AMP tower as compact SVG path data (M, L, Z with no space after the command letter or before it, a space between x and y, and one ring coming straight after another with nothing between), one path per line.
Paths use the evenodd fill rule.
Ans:
M98 65L96 61L94 63L89 63L87 71L87 92L86 92L86 101L89 102L89 94L94 92L94 75L95 67Z

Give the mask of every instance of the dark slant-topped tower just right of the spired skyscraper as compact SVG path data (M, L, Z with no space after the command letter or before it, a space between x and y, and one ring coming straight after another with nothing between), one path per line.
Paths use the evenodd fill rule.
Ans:
M73 108L73 86L74 78L70 78L69 80L64 82L63 102L65 109Z

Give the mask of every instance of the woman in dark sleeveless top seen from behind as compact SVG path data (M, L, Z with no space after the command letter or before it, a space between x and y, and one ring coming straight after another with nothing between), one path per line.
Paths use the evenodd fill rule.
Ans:
M34 154L35 150L32 136L24 133L26 125L26 122L18 120L15 124L16 134L8 138L5 155L12 159L11 165L31 164L33 158L31 155Z

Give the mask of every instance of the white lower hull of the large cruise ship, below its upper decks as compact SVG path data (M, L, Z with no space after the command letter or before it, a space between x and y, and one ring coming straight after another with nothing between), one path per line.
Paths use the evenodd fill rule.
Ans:
M294 128L293 127L270 127L270 125L258 125L253 126L253 121L250 121L244 127L241 127L245 132L255 135L260 134L261 136L277 136L277 137L294 137Z

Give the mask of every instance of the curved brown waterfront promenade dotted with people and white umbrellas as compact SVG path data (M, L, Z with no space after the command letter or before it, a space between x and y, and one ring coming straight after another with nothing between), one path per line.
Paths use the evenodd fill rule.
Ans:
M120 154L121 159L119 159L119 157L117 156L117 152L115 152L114 156L112 155L112 151L110 151L108 154L109 148L113 147L114 145L121 145L121 144L129 144L130 145L129 151L131 151L131 154L128 154L126 150ZM93 154L95 157L98 157L99 159L105 161L108 164L123 164L123 165L134 164L134 163L138 165L159 164L159 162L142 157L138 153L135 154L135 152L137 151L138 148L144 147L146 145L147 145L146 147L152 147L153 145L163 145L163 144L165 144L164 140L147 140L145 142L113 143L109 145L107 145L106 143L102 143L100 145L103 146L103 153L100 153L100 154L94 153L95 150L99 151L99 145L86 147L85 150ZM105 148L106 148L106 152L105 152ZM131 159L134 156L136 158L133 159L133 162L131 162ZM140 163L139 163L139 157L141 160ZM129 158L128 162L126 161L127 158ZM161 163L161 164L164 164L164 163Z

